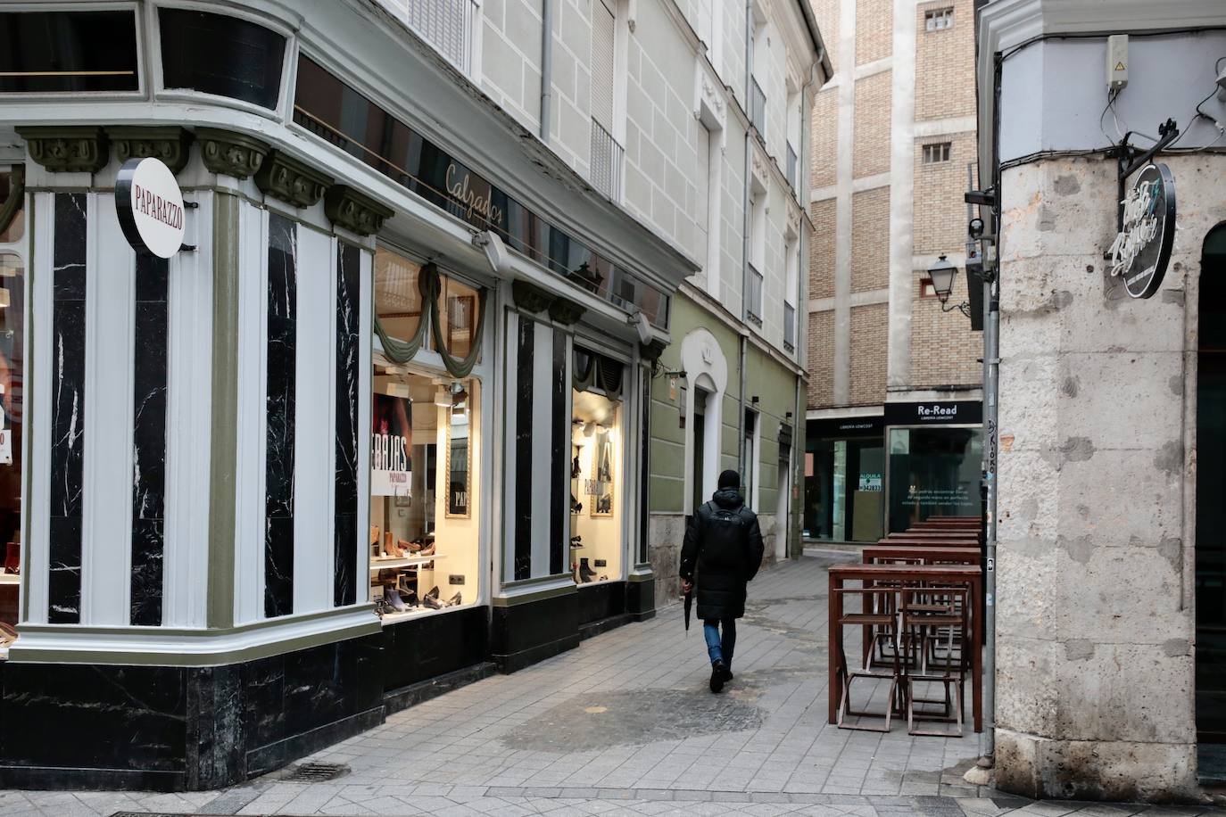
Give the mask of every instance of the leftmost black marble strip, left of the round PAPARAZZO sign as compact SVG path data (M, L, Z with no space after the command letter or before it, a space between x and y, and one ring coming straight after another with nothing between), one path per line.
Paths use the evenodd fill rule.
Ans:
M55 194L51 245L51 462L47 620L81 621L86 195Z

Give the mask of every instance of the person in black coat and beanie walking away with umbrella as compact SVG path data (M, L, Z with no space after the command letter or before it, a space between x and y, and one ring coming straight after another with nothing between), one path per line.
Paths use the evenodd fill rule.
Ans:
M732 680L737 619L745 615L745 584L758 573L764 551L758 514L741 499L741 475L723 472L717 488L711 501L690 517L679 571L683 592L698 587L698 617L711 659L711 692L720 692Z

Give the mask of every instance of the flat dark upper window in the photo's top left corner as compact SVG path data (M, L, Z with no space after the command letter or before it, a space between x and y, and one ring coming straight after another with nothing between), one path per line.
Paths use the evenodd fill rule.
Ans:
M0 92L139 89L135 12L0 13Z

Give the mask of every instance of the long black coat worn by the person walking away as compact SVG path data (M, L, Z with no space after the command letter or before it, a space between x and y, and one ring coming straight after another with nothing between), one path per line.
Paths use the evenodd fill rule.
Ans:
M758 573L763 550L758 514L737 489L721 488L694 512L685 528L680 576L698 588L699 619L745 615L745 583Z

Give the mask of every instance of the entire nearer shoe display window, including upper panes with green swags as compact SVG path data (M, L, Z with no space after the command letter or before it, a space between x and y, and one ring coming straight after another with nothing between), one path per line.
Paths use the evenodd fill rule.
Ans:
M435 279L423 284L423 274ZM375 255L383 352L374 355L370 401L370 600L385 622L471 606L481 593L481 381L430 365L439 350L479 359L478 301L477 289L423 273L407 255L384 247ZM396 363L396 352L411 359Z

